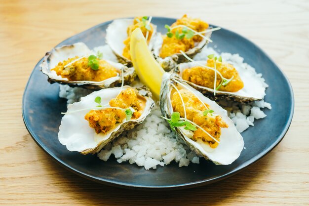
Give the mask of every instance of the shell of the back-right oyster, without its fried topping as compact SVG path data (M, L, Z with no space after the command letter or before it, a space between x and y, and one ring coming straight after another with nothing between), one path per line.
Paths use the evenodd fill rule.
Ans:
M209 28L211 29L211 28ZM208 39L210 39L212 32L206 33L204 36ZM190 57L193 58L197 53L201 51L201 49L209 42L204 38L202 41L196 43L195 47L192 49L189 49L185 53ZM186 59L181 53L176 53L174 55L161 58L160 57L160 50L163 44L163 39L161 33L156 33L154 37L154 46L153 46L153 53L154 57L159 62L161 67L166 71L170 71L174 68L176 68L177 64L188 62L188 59Z

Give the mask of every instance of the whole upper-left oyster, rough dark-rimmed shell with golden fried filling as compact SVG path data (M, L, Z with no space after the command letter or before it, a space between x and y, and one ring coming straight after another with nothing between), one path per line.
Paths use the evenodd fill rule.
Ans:
M133 67L128 68L113 61L97 58L99 68L91 69L88 57L92 54L94 52L83 42L56 47L46 53L40 65L41 71L51 83L59 82L89 89L119 86L122 77L124 84L134 81L136 74Z

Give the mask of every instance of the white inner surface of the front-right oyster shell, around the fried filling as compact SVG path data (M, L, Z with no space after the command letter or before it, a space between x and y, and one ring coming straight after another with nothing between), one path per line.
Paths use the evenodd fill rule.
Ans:
M181 133L185 137L186 141L190 144L194 145L196 149L198 149L204 156L206 156L211 161L215 162L219 165L230 165L234 162L240 155L244 142L241 134L237 131L235 125L232 120L228 117L227 111L220 107L216 102L208 99L203 96L200 92L190 87L186 84L187 87L190 88L191 91L196 94L199 99L201 99L204 103L210 106L210 109L214 110L214 114L220 115L222 120L225 121L229 127L221 128L221 136L220 136L220 144L216 148L211 148L208 143L204 143L203 141L195 142L190 139L188 136L188 130L185 130L184 127L181 127ZM185 88L182 85L177 85L178 89ZM169 91L169 97L171 97L171 91ZM170 105L170 111L173 111L172 104L170 102L171 98L168 99L168 105ZM187 136L188 135L188 136Z

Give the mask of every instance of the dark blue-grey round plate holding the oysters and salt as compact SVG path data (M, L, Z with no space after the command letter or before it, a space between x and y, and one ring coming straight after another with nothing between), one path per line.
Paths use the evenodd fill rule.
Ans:
M159 32L164 25L175 19L154 17L153 23ZM77 34L59 45L85 42L90 48L104 44L105 31L110 22L105 22ZM96 182L131 188L176 189L209 184L239 172L269 153L283 138L292 121L294 97L288 79L270 58L255 44L226 29L216 31L212 40L224 52L239 53L244 61L255 67L270 87L265 100L272 105L266 110L267 117L254 122L254 127L242 133L245 148L232 165L214 165L201 160L179 168L177 164L158 166L145 170L144 167L118 164L114 158L103 162L96 155L81 155L69 152L58 141L58 128L62 115L67 110L66 100L59 98L59 85L49 84L47 77L39 71L38 62L26 86L22 113L25 125L37 142L51 158L76 174ZM211 44L210 44L211 45Z

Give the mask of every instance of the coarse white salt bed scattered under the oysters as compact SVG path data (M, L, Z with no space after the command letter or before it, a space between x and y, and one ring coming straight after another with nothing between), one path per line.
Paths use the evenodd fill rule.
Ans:
M100 50L105 59L117 61L116 56L107 45L96 47L94 50ZM213 48L205 47L194 57L194 60L205 60L209 54L219 55ZM250 65L243 63L243 58L238 54L221 53L221 56L224 61L233 65L237 64L238 67L254 70ZM262 75L260 78L265 82ZM139 85L138 82L135 84ZM264 86L268 87L266 83ZM68 85L60 85L59 96L66 98L69 104L79 101L80 97L91 92L80 87L71 88ZM264 100L249 104L221 100L219 104L228 111L229 117L239 132L243 132L250 125L253 126L254 120L266 117L261 108L271 109L270 103L264 102ZM98 153L98 157L103 161L108 161L112 154L118 163L129 162L144 166L145 169L156 169L157 165L169 165L173 161L178 163L179 167L188 166L190 162L199 164L199 157L191 152L188 146L177 142L173 137L169 126L161 118L158 104L154 106L143 124L122 133L113 142L106 145Z

